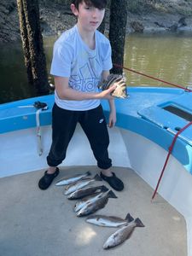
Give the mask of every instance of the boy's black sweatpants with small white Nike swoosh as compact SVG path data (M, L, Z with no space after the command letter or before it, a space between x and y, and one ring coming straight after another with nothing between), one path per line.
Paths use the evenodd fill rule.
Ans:
M66 110L59 108L56 104L54 105L52 110L52 144L47 156L48 165L58 166L66 158L67 146L73 137L78 122L90 142L97 166L101 169L111 167L112 160L108 158L108 128L101 105L86 111Z

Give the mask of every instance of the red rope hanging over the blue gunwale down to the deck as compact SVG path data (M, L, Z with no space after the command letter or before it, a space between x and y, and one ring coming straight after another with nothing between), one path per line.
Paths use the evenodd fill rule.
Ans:
M159 178L159 180L158 180L158 183L157 183L157 185L156 185L156 188L154 189L154 195L152 196L152 199L151 199L151 200L154 199L154 196L155 196L156 193L157 193L157 189L159 188L159 185L160 185L160 180L161 180L161 178L163 177L164 171L165 171L165 169L166 169L167 162L168 162L168 160L169 160L170 154L172 153L172 149L173 149L173 147L174 147L174 145L175 145L175 143L176 143L176 140L177 140L178 135L179 135L180 133L182 133L185 129L187 129L187 128L189 127L189 125L192 125L192 121L189 122L187 125L185 125L181 130L177 131L177 134L176 134L175 137L173 138L172 144L171 144L171 146L169 147L169 152L168 152L168 154L167 154L167 156L166 156L165 164L164 164L163 169L162 169L162 171L161 171L161 173L160 173L160 178Z

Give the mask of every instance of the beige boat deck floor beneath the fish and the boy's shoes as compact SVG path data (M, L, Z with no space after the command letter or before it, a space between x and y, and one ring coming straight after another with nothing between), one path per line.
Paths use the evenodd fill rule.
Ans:
M90 170L95 166L61 167L61 177ZM187 237L185 220L160 195L151 203L153 189L128 168L113 167L123 179L125 189L114 191L118 199L109 199L98 214L125 218L130 212L141 218L145 228L136 228L131 238L119 247L102 246L115 230L88 224L73 212L76 201L68 201L63 187L54 184L38 189L44 170L0 179L0 251L3 256L185 256ZM54 183L55 183L54 181ZM105 182L96 182L98 184Z

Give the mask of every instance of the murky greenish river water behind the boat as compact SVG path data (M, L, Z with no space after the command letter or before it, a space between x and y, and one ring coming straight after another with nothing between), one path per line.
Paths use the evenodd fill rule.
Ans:
M55 37L44 38L49 71ZM192 86L192 33L134 33L125 40L125 67L181 86ZM167 86L126 72L131 86ZM21 44L0 45L0 103L36 96L27 84Z

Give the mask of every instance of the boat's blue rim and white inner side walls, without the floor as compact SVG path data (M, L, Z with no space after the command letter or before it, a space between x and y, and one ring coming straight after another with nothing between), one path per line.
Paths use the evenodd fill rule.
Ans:
M164 107L171 102L183 109L188 108L189 112L191 97L183 90L137 88L130 90L129 99L117 100L117 127L109 129L109 154L113 159L113 166L131 167L154 189L177 128L183 127L187 122L177 114L167 112ZM29 107L35 101L46 102L49 107L48 110L39 112L40 137L37 137L37 109ZM53 103L54 96L42 96L0 106L0 140L3 145L0 152L0 177L46 168L46 156L51 143ZM108 105L102 102L102 106L108 119ZM191 127L177 138L158 193L186 219L188 255L192 256L190 129ZM43 148L41 155L39 138ZM80 126L77 127L67 158L61 166L96 166L96 160ZM149 195L148 201L151 196ZM155 200L156 198L153 202Z

